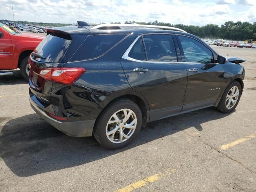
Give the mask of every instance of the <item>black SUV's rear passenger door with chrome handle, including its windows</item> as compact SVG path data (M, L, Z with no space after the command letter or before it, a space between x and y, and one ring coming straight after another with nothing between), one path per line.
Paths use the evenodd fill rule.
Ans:
M130 86L148 101L150 121L182 110L187 72L178 60L178 44L170 34L139 36L121 59Z

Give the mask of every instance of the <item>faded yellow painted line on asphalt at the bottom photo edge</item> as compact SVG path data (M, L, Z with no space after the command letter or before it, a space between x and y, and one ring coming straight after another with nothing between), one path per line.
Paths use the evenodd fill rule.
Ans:
M176 172L176 169L173 168L171 170L171 172L172 173ZM149 177L147 177L145 179L142 179L142 180L139 180L139 181L134 182L132 184L129 184L129 185L125 186L124 188L118 189L115 192L131 192L131 191L133 191L135 189L141 188L141 187L143 187L143 186L145 186L147 184L153 183L153 182L155 182L155 181L157 181L157 180L159 180L161 178L164 178L164 177L166 177L169 174L170 174L170 172L168 172L168 171L166 171L164 173L154 174L154 175L149 176Z

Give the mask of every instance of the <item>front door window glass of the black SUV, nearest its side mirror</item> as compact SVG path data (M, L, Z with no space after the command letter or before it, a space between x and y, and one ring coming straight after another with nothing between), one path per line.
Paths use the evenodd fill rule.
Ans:
M214 63L212 51L199 41L179 36L186 62Z

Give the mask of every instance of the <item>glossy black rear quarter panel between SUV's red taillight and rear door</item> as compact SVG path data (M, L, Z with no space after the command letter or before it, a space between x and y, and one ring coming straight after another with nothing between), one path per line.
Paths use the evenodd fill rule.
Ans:
M63 88L60 84L53 84L51 101L54 98L60 101L57 95L64 90L61 100L64 109L72 120L93 120L115 98L124 95L135 95L145 103L143 96L132 90L124 70L120 64L120 58L135 38L126 38L112 50L103 56L90 60L67 62L64 67L83 67L86 72L73 84Z

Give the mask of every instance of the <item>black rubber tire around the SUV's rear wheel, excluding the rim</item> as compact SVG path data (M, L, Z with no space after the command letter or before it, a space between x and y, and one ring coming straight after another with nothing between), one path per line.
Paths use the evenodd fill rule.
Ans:
M108 137L106 136L106 126L108 123L108 120L111 118L111 116L121 109L130 109L132 110L136 117L137 117L137 124L136 128L133 132L133 134L128 138L126 141L121 143L113 143L111 142ZM96 140L104 147L108 149L118 149L122 148L132 142L136 136L138 136L138 133L140 132L140 128L142 125L142 113L140 111L140 108L138 105L136 105L134 102L128 99L120 99L116 100L115 102L109 104L100 114L100 116L97 118L96 123L94 125L93 135L96 138Z

